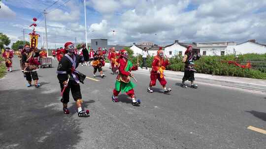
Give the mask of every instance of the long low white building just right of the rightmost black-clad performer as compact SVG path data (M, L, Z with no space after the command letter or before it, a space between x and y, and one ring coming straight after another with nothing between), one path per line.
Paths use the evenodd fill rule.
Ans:
M233 54L235 42L208 42L197 43L201 55L227 55Z

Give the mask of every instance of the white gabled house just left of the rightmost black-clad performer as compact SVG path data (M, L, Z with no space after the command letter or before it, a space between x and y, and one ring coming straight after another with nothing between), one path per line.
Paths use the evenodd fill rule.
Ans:
M177 55L184 55L188 46L192 46L193 50L199 50L195 44L179 43L178 40L175 40L173 44L165 47L165 54L169 58Z

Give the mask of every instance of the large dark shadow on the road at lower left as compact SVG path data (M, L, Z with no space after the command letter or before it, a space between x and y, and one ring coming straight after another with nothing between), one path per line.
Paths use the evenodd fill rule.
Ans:
M82 128L70 99L65 115L58 92L28 88L0 91L0 144L4 149L72 149L81 140ZM84 101L87 109L95 100Z

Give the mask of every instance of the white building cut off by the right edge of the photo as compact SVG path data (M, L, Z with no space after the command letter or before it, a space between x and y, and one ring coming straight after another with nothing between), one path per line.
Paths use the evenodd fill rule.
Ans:
M234 49L236 55L247 53L266 53L266 45L256 43L255 40L249 40L244 43L237 44Z

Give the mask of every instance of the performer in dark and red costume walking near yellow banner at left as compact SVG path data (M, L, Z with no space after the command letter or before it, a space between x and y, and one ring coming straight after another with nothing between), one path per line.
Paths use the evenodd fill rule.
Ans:
M22 65L23 65L23 72L24 75L26 76L26 80L28 81L27 87L32 86L32 80L34 81L34 85L36 87L39 87L40 84L38 83L38 74L37 70L39 69L39 51L30 48L29 45L25 45L25 48L22 52Z

